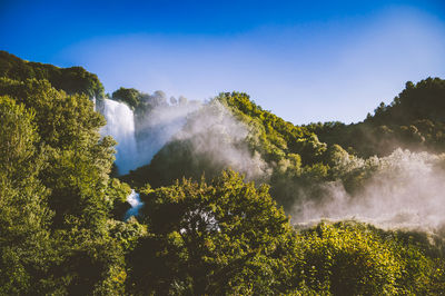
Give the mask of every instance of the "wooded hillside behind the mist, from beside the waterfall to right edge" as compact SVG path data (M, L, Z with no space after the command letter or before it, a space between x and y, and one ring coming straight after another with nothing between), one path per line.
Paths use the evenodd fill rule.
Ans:
M444 151L445 127L438 117L441 109L435 107L445 98L443 85L438 78L416 87L407 83L389 107L377 108L374 117L349 126L294 126L263 110L246 93L220 93L189 115L181 134L167 142L149 165L122 179L132 186L149 182L159 187L182 177L198 180L205 175L211 179L230 167L250 180L269 184L273 197L289 213L307 196L323 199L329 195L327 181L340 181L346 194L358 195L373 178L370 171L378 170L383 161L367 158L390 159L397 148ZM426 111L419 112L419 105L426 105L422 107Z

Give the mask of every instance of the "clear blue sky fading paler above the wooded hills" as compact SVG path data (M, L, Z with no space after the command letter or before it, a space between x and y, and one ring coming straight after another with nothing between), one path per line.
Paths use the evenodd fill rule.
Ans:
M294 124L358 121L445 78L445 1L0 0L0 49L106 90L245 91Z

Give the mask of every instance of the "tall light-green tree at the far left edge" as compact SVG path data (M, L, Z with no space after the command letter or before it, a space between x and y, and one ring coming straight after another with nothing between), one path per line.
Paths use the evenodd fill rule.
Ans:
M49 239L52 213L38 179L44 168L34 115L0 96L0 294L51 290L48 269L57 262Z

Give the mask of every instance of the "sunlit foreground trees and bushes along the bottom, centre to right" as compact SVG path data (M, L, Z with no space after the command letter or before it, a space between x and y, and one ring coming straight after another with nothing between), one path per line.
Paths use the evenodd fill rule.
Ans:
M129 254L140 294L428 294L444 288L442 253L412 234L357 223L294 230L267 187L225 171L142 190L147 236Z

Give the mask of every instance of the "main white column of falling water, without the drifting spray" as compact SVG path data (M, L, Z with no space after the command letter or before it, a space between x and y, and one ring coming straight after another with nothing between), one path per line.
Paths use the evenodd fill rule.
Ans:
M102 128L101 134L112 136L118 142L116 166L118 174L125 175L135 169L138 162L134 114L127 105L105 99L102 115L107 119L107 126Z

